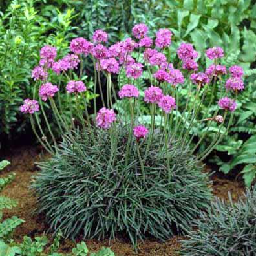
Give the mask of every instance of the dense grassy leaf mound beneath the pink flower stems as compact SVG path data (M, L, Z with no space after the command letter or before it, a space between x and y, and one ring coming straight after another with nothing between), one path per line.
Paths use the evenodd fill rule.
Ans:
M109 131L96 129L96 144L81 133L74 134L74 140L67 136L56 155L39 164L42 171L33 187L50 228L60 229L66 237L83 233L86 238L99 239L114 238L122 231L133 244L146 235L165 240L177 231L186 233L211 198L202 165L187 147L181 153L180 145L173 142L168 147L168 182L162 134L155 133L144 177L135 140L125 167L129 129L117 127L115 131L115 155L111 154ZM140 144L142 155L146 147Z

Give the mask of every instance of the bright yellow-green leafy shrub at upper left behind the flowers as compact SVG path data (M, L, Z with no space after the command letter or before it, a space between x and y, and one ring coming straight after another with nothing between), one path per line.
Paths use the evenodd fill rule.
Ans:
M61 45L67 50L72 37L72 10L58 12L54 22L41 16L34 0L13 0L0 14L0 135L14 136L25 129L19 116L23 98L33 96L30 74L39 60L37 50L42 44ZM8 63L8 65L6 65Z

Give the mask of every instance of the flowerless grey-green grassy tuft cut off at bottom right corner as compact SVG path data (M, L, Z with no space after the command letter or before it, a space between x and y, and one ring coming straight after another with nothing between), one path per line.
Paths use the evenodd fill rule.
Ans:
M250 256L256 252L256 187L239 202L217 199L195 222L198 228L183 241L182 255Z

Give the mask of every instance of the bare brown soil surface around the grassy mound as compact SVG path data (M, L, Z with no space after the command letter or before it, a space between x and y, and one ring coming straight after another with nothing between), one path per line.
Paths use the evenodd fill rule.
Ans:
M36 214L36 198L29 189L33 175L36 175L38 171L35 162L45 157L47 155L41 155L40 149L37 147L19 147L9 153L5 153L5 156L3 156L3 159L9 160L12 164L1 173L1 176L5 176L9 172L15 172L16 178L5 187L2 195L14 198L18 203L16 208L5 210L4 217L16 215L25 220L25 223L19 226L14 233L16 241L23 240L24 235L30 237L43 235L47 230L43 216ZM244 186L241 181L230 180L218 174L213 175L212 180L214 195L224 198L224 200L228 199L228 191L230 191L233 200L237 200L244 192ZM51 234L47 234L47 236L52 240ZM148 239L145 243L139 244L138 254L134 252L131 243L122 237L115 241L112 240L110 246L109 240L85 240L85 242L90 252L99 250L102 246L109 246L116 256L174 256L178 255L178 250L180 249L178 241L180 239L182 237L173 237L164 243ZM76 240L76 242L80 241L81 239ZM70 240L61 241L61 252L69 253L74 245L75 243Z

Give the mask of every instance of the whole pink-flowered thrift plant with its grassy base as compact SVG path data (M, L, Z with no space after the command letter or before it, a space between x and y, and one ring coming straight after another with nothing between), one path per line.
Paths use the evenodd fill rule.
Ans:
M213 64L206 72L197 72L198 52L189 43L178 48L179 63L169 63L174 53L169 48L172 32L167 29L158 30L153 41L147 26L138 24L133 36L107 47L107 33L96 30L93 43L73 39L72 53L58 61L56 48L47 45L32 71L40 109L44 112L42 101L50 102L63 134L58 145L47 125L51 136L47 138L37 116L38 101L24 101L21 112L29 114L37 139L53 155L40 164L33 187L50 228L67 237L83 233L87 238L114 238L122 231L135 245L146 235L165 240L177 231L186 233L199 210L209 206L208 174L202 173L200 162L228 133L237 92L244 87L242 69L231 67L226 80L226 67L219 65L224 52L213 47L206 52ZM99 93L101 101L94 98L92 114L82 76L85 58L94 64L94 94ZM69 114L62 114L63 85L50 83L53 73L67 78ZM143 73L148 86L139 91ZM188 95L182 94L182 84L189 88ZM206 131L192 149L198 112L215 87L221 88L222 97L213 116L207 110L202 116ZM186 98L184 104L180 97ZM208 108L213 101L209 98L204 102ZM142 102L149 106L149 116L142 116ZM211 144L193 155L211 123L216 126Z

